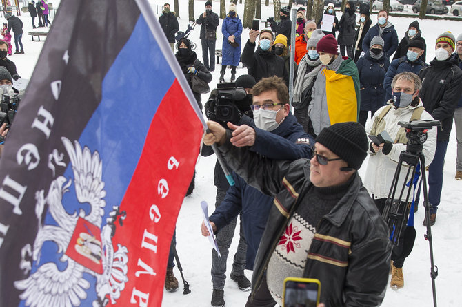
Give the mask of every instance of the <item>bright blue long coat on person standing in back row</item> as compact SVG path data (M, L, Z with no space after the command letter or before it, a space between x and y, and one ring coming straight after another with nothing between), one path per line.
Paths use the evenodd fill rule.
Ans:
M239 65L241 59L241 34L242 34L242 22L239 16L236 14L235 17L226 16L221 26L221 33L223 33L223 59L221 65ZM239 43L238 47L232 47L228 43L228 37L234 35L234 41Z

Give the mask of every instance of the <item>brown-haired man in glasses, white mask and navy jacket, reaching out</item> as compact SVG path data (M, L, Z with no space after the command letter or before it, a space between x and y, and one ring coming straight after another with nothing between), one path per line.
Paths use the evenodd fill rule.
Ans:
M309 134L305 134L303 127L297 123L296 118L290 113L288 89L282 79L277 77L263 78L254 86L253 93L252 109L254 110L256 127L232 125L233 127L239 127L234 131L234 138L232 139L234 144L248 147L250 151L268 159L296 160L298 158L310 158L312 156L311 146L314 144L314 140ZM228 123L228 125L230 124ZM274 198L264 195L254 187L250 187L236 173L232 173L232 177L235 184L228 189L220 206L210 215L210 224L214 229L214 233L217 233L217 242L222 255L221 262L224 261L225 263L226 258L223 258L219 239L223 236L222 232L227 231L228 226L226 225L232 224L237 215L241 213L241 224L247 240L245 268L252 270L270 209L274 206ZM204 236L209 235L205 224L202 224L201 232ZM231 239L232 233L226 245L225 255L228 255ZM214 255L212 281L214 281L214 268L217 266L215 265L216 253L214 251L212 253ZM234 257L234 260L236 260L236 257ZM243 283L239 282L239 276L235 275L234 266L230 277L237 280L241 290L250 290L250 282L248 282L247 288L241 287ZM223 290L218 292L215 289L214 284L214 293L223 295ZM215 302L217 303L217 301ZM218 302L222 304L213 304L212 297L212 306L224 306L224 299Z

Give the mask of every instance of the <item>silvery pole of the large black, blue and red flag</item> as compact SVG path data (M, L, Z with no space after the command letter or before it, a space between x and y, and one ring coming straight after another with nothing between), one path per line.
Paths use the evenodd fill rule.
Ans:
M159 42L159 48L161 49L163 56L165 56L165 59L168 61L168 65L170 65L170 68L172 68L172 72L177 78L179 84L183 88L186 97L190 101L190 105L194 109L194 112L196 112L197 117L201 120L203 129L209 133L210 131L208 130L205 119L203 118L202 110L199 109L199 104L197 103L196 98L194 98L194 94L192 94L192 89L188 84L188 81L186 81L183 71L181 71L181 67L178 64L177 58L175 58L172 49L170 48L170 44L168 43L165 34L163 34L161 25L159 25L159 21L157 21L152 8L146 0L135 0L135 2L137 3L146 23L148 24L152 35L154 35L154 38ZM228 167L225 165L223 156L221 156L221 152L218 150L217 145L212 145L212 149L217 156L218 162L220 163L221 169L223 169L223 173L225 173L228 183L230 185L234 185L234 180L232 179L230 171L228 171Z

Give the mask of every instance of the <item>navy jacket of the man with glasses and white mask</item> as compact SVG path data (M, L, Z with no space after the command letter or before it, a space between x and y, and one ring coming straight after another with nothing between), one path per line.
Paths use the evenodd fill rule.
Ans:
M295 116L290 113L277 129L271 132L254 128L255 143L250 150L256 151L273 160L297 160L311 158L311 146L314 139L303 131ZM245 268L252 270L259 248L261 236L265 230L270 209L274 206L274 198L250 187L245 181L232 173L234 186L228 189L225 199L210 215L220 231L242 212L242 226L247 240L247 256Z

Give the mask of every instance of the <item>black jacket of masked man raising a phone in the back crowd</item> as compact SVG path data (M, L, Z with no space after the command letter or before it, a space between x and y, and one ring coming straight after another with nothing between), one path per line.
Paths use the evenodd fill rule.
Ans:
M281 56L274 54L274 49L263 51L257 47L255 51L255 43L247 41L242 52L242 63L248 69L248 74L259 82L262 78L270 76L279 76L284 79L285 85L289 87L289 75L285 69L285 62Z

